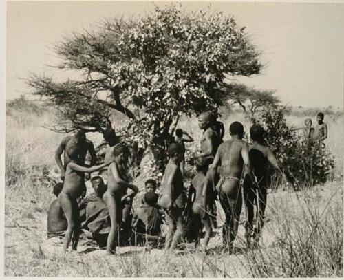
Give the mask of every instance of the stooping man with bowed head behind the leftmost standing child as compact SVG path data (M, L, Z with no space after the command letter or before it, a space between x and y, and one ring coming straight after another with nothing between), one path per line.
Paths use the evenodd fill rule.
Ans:
M94 165L96 163L96 151L94 151L93 143L86 139L85 132L80 130L76 131L73 136L63 138L55 152L55 160L61 171L62 180L65 178L67 164L71 161L69 155L66 153L67 150L71 155L78 155L78 159L76 160L77 164L83 165L85 163L87 151L89 151L89 155L91 155L90 164ZM65 152L65 154L62 163L61 155L63 152Z

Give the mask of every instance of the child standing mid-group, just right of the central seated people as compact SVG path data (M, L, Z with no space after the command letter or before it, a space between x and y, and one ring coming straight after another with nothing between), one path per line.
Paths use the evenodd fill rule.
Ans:
M179 164L183 159L180 144L172 143L167 148L169 163L166 165L164 177L162 178L162 193L158 204L164 209L166 224L169 230L166 233L165 250L173 249L183 233L184 219L182 209L184 208L183 176ZM177 230L175 230L177 226Z

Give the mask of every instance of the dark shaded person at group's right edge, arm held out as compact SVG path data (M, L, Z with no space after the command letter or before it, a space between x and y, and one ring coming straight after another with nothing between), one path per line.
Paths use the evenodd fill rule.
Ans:
M246 176L244 180L244 199L248 215L248 217L246 217L248 220L245 226L246 246L248 247L251 244L250 239L252 237L252 231L254 246L258 244L259 237L261 236L261 228L264 224L264 212L266 208L269 163L281 172L275 155L270 148L265 145L263 127L260 125L252 125L250 128L250 137L253 143L248 153L252 166L252 173L254 174L254 181L248 176ZM253 229L254 204L257 207L255 229Z

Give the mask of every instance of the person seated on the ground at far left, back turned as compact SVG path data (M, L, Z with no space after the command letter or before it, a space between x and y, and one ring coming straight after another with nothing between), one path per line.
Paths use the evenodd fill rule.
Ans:
M63 183L57 183L54 186L53 193L58 197L63 188ZM63 210L58 202L58 199L54 200L50 204L49 211L47 213L47 238L54 236L64 236L67 230L67 219Z

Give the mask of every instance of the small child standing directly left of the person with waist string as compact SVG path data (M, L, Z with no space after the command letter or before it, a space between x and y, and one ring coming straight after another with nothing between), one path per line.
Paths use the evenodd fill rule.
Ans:
M211 212L213 204L213 189L210 180L208 180L206 173L204 173L204 164L201 161L200 159L195 160L195 166L198 173L193 177L188 197L189 200L191 200L192 195L195 195L193 202L191 202L192 211L195 217L197 217L199 221L202 221L206 229L206 235L204 236L204 248L206 248L211 236L211 219L209 213ZM200 244L201 231L202 228L199 230L195 246Z

